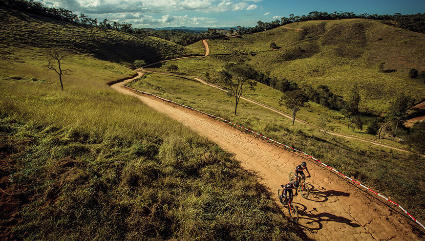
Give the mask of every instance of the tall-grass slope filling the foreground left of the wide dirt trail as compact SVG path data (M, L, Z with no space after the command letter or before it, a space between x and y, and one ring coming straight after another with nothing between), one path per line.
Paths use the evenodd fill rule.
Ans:
M18 221L3 238L297 239L229 153L106 85L131 70L71 54L60 91L43 50L8 51L0 205Z

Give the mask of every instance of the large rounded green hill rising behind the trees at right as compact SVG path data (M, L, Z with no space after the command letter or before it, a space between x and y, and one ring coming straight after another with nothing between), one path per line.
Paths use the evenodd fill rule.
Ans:
M210 40L211 54L227 54L224 61L245 60L272 76L299 85L327 85L346 97L355 83L362 110L382 113L397 93L416 101L424 98L425 85L410 79L408 71L425 70L425 34L388 26L378 21L350 19L309 21L250 35ZM270 43L279 47L271 49ZM385 62L378 71L378 64Z

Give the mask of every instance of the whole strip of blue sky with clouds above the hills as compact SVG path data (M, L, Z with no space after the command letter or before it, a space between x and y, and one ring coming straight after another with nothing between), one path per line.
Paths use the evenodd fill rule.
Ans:
M425 0L41 0L47 6L90 18L127 22L134 27L255 26L291 13L312 11L356 14L425 12Z

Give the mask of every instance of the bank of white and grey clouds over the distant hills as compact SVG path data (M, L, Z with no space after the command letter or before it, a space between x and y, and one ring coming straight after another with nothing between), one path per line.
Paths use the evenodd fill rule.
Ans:
M261 0L40 0L46 6L65 8L90 18L132 23L134 27L216 24L203 13L248 11ZM193 13L193 14L190 14ZM188 15L193 17L188 17ZM183 15L183 16L179 16Z

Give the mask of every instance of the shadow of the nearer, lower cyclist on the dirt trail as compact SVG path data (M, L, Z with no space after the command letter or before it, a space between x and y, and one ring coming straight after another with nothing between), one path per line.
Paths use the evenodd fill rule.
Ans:
M318 212L316 208L313 208L312 210L307 211L307 207L304 206L303 204L297 203L297 202L293 202L293 203L297 206L297 209L298 209L298 215L299 215L298 225L310 231L320 230L323 228L322 222L330 222L330 221L345 223L353 228L357 228L361 226L358 223L354 223L350 219L337 216L334 214L330 214L330 213L315 214L314 212ZM304 225L300 224L300 222L304 223ZM316 227L315 227L315 223L317 224Z

